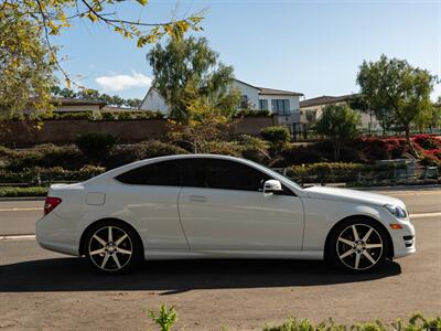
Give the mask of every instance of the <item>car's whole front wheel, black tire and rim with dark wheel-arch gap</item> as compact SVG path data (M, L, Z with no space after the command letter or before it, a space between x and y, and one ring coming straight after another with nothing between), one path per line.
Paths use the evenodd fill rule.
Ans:
M366 274L384 264L389 247L389 237L378 221L354 217L333 228L326 243L325 259L346 271Z

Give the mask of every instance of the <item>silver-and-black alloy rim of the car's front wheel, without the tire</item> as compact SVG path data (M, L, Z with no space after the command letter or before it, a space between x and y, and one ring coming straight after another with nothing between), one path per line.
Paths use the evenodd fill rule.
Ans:
M368 224L352 224L344 228L336 242L340 260L354 270L366 270L381 259L384 243L380 234Z

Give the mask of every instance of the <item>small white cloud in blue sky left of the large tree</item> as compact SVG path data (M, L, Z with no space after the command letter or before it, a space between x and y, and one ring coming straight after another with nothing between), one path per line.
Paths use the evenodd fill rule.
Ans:
M132 87L149 87L152 79L143 74L100 76L95 82L105 90L126 90Z

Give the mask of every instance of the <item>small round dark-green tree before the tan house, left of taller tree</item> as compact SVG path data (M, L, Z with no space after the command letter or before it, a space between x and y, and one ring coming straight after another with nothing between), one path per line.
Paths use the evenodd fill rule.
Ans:
M359 122L359 114L347 105L327 105L324 108L315 129L332 141L335 161L340 160L342 147L358 136Z

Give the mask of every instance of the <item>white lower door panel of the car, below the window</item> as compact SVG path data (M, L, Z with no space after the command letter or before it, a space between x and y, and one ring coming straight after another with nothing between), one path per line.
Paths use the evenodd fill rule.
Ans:
M304 213L298 196L183 188L179 205L192 249L302 248Z

